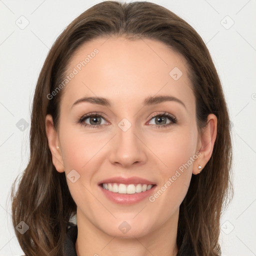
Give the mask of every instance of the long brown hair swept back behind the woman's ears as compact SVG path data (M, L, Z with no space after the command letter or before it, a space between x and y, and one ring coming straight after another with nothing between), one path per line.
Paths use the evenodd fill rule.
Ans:
M30 128L30 159L17 190L12 190L12 222L23 220L29 229L18 242L26 255L62 255L67 224L76 213L65 173L56 171L45 132L45 116L51 114L58 130L59 102L63 89L49 95L61 83L70 58L85 42L97 37L124 35L164 42L188 62L196 98L200 131L207 115L217 117L217 136L211 158L199 175L192 175L180 205L176 244L178 255L220 255L220 216L232 197L230 182L230 121L221 83L209 51L197 32L170 10L141 1L104 1L75 18L52 45L36 84Z

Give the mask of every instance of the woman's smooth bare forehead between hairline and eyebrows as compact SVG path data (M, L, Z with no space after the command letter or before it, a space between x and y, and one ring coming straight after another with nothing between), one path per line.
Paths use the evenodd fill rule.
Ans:
M157 40L93 39L72 56L66 75L71 73L61 99L69 107L85 95L130 104L149 95L171 94L190 107L194 103L185 59Z

